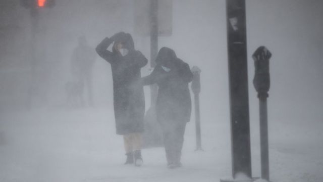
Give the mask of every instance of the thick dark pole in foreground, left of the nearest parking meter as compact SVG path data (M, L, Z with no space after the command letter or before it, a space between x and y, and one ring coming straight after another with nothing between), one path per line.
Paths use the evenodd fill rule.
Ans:
M227 0L232 176L252 181L245 13L245 0Z

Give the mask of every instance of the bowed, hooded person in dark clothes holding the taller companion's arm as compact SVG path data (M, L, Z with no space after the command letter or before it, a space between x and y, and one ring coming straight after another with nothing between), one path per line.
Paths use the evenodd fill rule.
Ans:
M193 79L189 65L177 58L170 48L161 48L152 73L143 77L143 84L157 83L157 121L163 130L169 168L180 167L186 123L191 115L188 83Z

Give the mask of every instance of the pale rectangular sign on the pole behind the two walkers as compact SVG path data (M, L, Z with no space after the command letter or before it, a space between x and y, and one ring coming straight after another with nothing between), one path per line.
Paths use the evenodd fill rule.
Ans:
M150 36L150 0L135 1L135 33ZM157 5L158 36L171 36L173 24L173 0L158 1Z

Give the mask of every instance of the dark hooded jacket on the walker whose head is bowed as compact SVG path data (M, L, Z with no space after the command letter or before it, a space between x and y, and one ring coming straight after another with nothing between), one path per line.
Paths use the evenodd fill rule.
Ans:
M163 67L170 68L167 72ZM152 73L143 77L144 85L157 83L156 115L158 122L188 122L191 115L191 97L188 83L193 74L187 63L177 58L169 48L161 48Z

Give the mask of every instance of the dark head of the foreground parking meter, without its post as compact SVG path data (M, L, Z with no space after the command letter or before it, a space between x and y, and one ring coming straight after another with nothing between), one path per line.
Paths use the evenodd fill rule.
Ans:
M253 85L258 92L258 98L263 100L268 97L270 88L269 59L272 53L264 46L260 46L252 55L254 60L255 74Z

